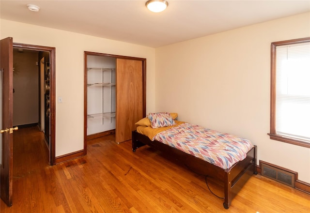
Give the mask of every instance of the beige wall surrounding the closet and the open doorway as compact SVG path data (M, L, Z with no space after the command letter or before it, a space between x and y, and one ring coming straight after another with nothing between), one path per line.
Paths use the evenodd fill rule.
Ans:
M0 20L0 36L56 48L56 156L83 149L84 51L146 58L147 111L155 111L155 49L63 30Z

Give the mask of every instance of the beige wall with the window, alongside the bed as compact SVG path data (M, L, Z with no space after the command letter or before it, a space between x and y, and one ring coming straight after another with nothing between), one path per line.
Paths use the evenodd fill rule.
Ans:
M270 44L310 36L310 14L156 49L157 111L250 139L260 160L310 183L310 149L270 140Z

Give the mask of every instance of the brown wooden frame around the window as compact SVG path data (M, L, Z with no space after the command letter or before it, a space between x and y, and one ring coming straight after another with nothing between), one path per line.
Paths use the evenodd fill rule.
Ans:
M307 147L310 148L310 142L305 140L298 140L291 137L284 137L277 135L276 133L276 48L277 46L283 45L293 45L299 43L306 43L310 42L310 37L307 38L300 38L300 39L292 39L280 42L273 42L271 43L271 76L270 76L270 139L278 140L285 143L294 144L297 146Z

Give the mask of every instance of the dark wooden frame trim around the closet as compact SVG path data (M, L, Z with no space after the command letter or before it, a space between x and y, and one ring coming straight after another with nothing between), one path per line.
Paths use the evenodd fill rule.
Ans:
M143 111L143 117L146 116L146 59L130 57L130 56L112 55L112 54L107 54L107 53L84 51L84 155L86 155L87 153L87 56L88 55L106 56L106 57L112 57L115 59L128 59L128 60L142 61L142 98L143 98L142 111Z

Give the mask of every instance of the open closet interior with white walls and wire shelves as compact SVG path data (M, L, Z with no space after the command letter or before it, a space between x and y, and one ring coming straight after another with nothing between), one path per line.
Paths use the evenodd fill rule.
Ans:
M115 134L116 59L87 55L87 137Z

